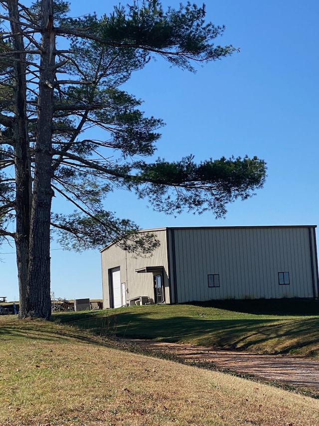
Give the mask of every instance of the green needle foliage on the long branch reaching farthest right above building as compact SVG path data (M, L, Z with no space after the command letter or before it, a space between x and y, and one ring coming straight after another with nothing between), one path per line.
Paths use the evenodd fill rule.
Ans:
M197 165L190 155L171 163L140 161L136 167L140 173L128 178L128 186L140 197L149 197L157 210L169 214L185 208L197 213L211 210L216 217L226 214L227 203L245 200L256 188L262 188L266 170L263 160L247 156L210 159Z

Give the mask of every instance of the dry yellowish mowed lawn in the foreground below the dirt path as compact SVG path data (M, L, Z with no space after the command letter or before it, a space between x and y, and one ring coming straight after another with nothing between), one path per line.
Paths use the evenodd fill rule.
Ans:
M2 316L0 348L0 425L317 426L319 421L316 399L114 349L105 338L60 322Z

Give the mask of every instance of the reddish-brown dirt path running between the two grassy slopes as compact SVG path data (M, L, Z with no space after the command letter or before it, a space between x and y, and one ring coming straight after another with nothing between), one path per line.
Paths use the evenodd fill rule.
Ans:
M128 349L130 346L136 346L141 351L173 353L186 361L211 362L218 370L256 376L299 390L308 390L319 396L318 360L287 355L258 355L150 340L125 339L122 341L122 345Z

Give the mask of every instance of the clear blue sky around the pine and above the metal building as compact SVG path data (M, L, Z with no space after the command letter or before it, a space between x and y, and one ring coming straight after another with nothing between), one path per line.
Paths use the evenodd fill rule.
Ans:
M112 3L73 0L71 10L73 15L108 13ZM178 7L179 0L162 4ZM114 192L106 208L144 229L317 224L318 1L207 0L206 8L207 20L226 25L217 44L231 43L240 53L198 67L196 74L152 62L125 89L145 100L146 115L166 123L156 157L174 160L192 153L199 162L257 155L268 166L264 189L229 205L226 218L218 220L210 213L176 218L156 213L124 191ZM0 296L17 300L14 248L4 244L0 259ZM53 242L51 275L55 297L102 298L98 250L72 253Z

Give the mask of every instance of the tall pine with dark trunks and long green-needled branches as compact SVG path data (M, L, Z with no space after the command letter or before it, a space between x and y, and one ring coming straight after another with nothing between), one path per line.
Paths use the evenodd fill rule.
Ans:
M76 19L60 0L0 6L0 237L16 246L20 318L50 318L51 229L78 249L111 241L128 250L156 246L104 209L114 188L167 213L210 209L219 217L227 203L263 186L265 163L256 157L143 160L154 153L162 122L145 117L121 86L156 56L193 71L196 62L230 55L231 45L213 44L224 27L205 22L204 6L164 11L160 1L134 1ZM88 137L92 127L105 139ZM76 211L52 213L55 194Z

